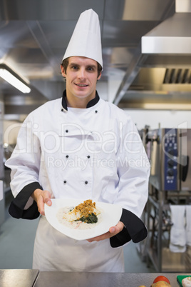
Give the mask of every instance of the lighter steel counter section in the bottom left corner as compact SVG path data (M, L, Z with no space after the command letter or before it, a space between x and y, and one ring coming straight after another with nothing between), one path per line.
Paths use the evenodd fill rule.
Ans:
M0 286L4 287L32 287L38 276L38 270L1 269Z

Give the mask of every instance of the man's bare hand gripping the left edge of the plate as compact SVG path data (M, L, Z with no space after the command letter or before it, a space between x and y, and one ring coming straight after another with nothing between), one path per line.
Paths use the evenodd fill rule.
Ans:
M41 213L41 215L45 215L44 213L44 203L47 204L47 206L52 205L51 201L51 193L49 191L42 191L41 189L37 188L32 193L32 198L34 201L36 201L38 206L38 212Z

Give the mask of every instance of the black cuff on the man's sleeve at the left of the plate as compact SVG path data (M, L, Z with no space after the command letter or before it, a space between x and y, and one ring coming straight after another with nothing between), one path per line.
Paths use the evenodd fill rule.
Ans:
M40 213L38 212L36 201L33 201L33 204L28 209L24 210L29 197L37 188L42 189L38 182L29 183L25 186L11 202L11 205L9 206L9 214L14 218L38 218Z

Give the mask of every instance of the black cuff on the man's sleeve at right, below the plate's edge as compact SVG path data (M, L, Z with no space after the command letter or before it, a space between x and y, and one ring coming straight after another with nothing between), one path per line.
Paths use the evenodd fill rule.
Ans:
M124 223L125 227L123 228L123 231L120 231L120 233L110 238L111 247L123 246L130 240L134 243L138 243L148 236L148 230L145 227L145 224L138 216L135 216L133 212L123 208L120 221Z

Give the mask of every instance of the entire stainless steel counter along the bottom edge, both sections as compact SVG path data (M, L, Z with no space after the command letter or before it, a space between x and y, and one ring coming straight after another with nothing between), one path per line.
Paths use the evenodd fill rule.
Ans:
M0 286L5 287L150 287L153 280L166 276L172 287L179 286L177 275L182 273L82 273L43 272L38 270L0 270Z

